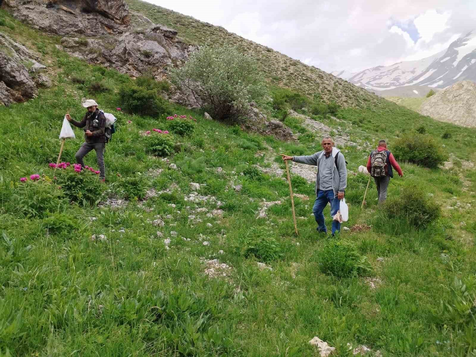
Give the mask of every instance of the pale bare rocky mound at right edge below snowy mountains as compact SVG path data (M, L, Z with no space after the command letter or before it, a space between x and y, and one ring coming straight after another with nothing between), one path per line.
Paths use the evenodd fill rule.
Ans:
M476 83L453 84L423 102L419 112L433 119L464 127L476 127Z

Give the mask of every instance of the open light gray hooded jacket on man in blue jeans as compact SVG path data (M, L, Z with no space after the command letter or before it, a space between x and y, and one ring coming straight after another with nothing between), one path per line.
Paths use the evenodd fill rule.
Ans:
M332 148L332 157L335 158L337 153L339 156L337 157L337 165L339 169L337 169L336 164L334 164L334 170L332 171L332 188L334 190L334 196L337 196L338 192L344 193L347 187L347 167L346 167L346 159L344 155L340 152L337 148ZM293 161L299 164L307 164L319 167L320 160L325 155L324 150L316 152L313 155L307 156L293 156ZM319 172L316 175L316 197L317 197L317 189L319 188Z

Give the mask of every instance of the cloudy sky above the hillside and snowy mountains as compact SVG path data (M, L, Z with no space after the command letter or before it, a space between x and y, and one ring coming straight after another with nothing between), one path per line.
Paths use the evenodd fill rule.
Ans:
M148 0L326 71L418 60L476 31L476 0Z

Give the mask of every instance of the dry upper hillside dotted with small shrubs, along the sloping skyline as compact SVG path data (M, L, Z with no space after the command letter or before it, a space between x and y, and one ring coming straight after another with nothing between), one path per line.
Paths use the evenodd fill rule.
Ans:
M258 61L260 69L272 84L294 89L309 97L320 93L326 101L337 100L344 107L365 108L384 101L365 89L357 88L316 67L307 66L266 46L246 40L222 27L144 1L126 2L131 10L147 16L153 22L178 30L178 36L190 43L236 46L238 50L248 53Z

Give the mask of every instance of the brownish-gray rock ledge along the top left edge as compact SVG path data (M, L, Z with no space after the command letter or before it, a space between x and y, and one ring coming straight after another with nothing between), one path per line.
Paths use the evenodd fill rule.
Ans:
M120 33L130 22L123 0L4 0L4 4L18 20L56 35Z

